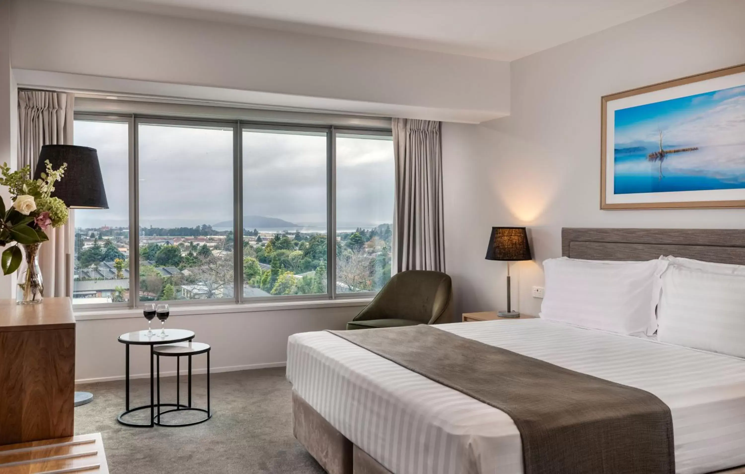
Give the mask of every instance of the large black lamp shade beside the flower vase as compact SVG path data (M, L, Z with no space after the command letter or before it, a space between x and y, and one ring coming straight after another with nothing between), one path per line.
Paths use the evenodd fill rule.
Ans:
M44 145L39 153L39 162L34 168L34 180L46 171L45 161L51 162L54 170L67 163L61 180L54 183L52 197L59 197L71 209L109 209L98 165L98 152L94 148L75 145Z

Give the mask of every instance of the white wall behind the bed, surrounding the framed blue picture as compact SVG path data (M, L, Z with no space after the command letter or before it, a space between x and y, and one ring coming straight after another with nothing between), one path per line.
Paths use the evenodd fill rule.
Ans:
M503 309L505 264L489 229L525 225L535 261L561 255L561 227L742 228L745 209L601 211L600 97L745 63L745 1L690 0L512 63L511 114L446 124L446 259L462 311ZM519 309L537 314L535 262L519 262ZM514 282L514 279L513 279Z

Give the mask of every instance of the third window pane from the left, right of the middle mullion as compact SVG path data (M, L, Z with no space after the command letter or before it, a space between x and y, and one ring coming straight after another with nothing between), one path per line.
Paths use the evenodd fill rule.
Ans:
M328 292L326 132L243 130L243 295Z

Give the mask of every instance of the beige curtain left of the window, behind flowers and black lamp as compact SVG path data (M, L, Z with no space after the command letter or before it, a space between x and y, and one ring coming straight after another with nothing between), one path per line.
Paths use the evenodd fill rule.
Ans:
M19 168L31 166L33 175L42 145L72 145L73 102L74 96L66 92L18 91ZM71 294L71 225L48 230L49 241L39 252L45 297Z

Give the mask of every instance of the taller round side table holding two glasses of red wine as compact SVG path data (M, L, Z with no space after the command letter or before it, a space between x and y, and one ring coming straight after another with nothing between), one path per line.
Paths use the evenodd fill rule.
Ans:
M125 357L125 366L126 366L126 375L125 375L125 391L126 391L126 405L125 410L122 411L118 417L116 417L116 420L121 423L124 426L131 426L133 428L152 428L154 426L153 423L153 417L155 417L155 400L154 400L154 384L153 384L153 347L159 344L168 344L168 343L174 343L174 342L183 342L183 341L191 341L191 339L194 339L194 332L188 331L187 329L166 329L165 330L165 338L158 335L159 332L153 332L153 335L148 335L148 331L142 330L142 331L135 331L135 332L127 332L127 334L122 334L119 336L118 341L121 342L121 344L124 344L125 350L124 350L124 357ZM150 346L150 405L142 405L135 408L130 408L130 346ZM173 404L169 404L167 406L173 406ZM186 407L186 405L184 405ZM127 414L132 413L133 411L139 411L144 410L146 408L150 408L150 423L130 423L128 421L124 421L122 417L124 417Z

